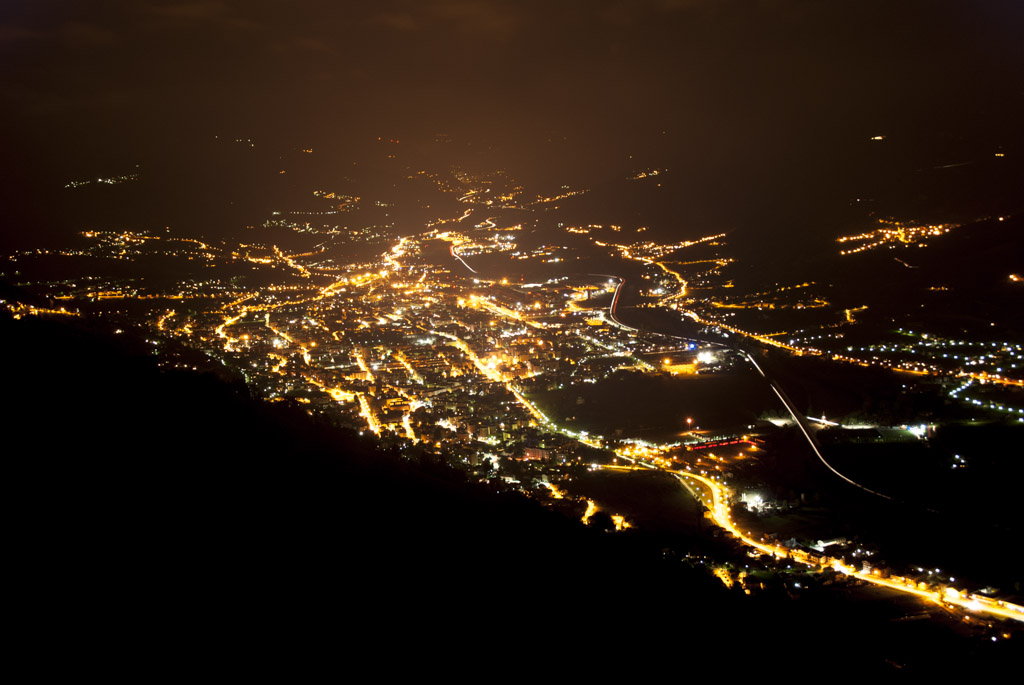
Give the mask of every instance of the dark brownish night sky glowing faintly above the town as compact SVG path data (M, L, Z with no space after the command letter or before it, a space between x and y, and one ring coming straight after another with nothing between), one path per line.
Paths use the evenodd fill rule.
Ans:
M1022 42L1016 0L8 0L2 180L214 133L446 132L542 166L562 136L582 166L664 153L709 187L827 176L874 134L957 162L1021 148Z

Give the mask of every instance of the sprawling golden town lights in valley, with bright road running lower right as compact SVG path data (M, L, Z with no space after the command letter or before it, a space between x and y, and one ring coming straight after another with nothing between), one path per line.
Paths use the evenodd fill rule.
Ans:
M658 171L645 173L653 176ZM547 205L585 191L566 189L534 204ZM469 207L461 216L438 219L420 233L393 239L377 258L364 263L332 258L323 246L289 253L273 244L227 246L141 231L90 231L85 237L93 247L81 254L91 257L134 259L163 254L211 270L224 265L272 269L276 277L264 286L236 286L231 281L211 280L202 285L181 283L169 290L83 280L54 283L49 286L49 294L69 305L103 300L104 293L117 295L105 298L112 301L152 302L145 322L154 334L174 337L241 370L254 391L267 399L290 397L307 405L310 412L338 413L382 438L457 448L470 441L477 445L498 444L508 440L503 436L536 428L573 443L611 448L616 460L633 465L601 468L647 468L672 473L703 503L717 525L763 554L835 568L932 601L1022 619L1024 609L1014 605L993 603L949 587L922 588L908 580L883 579L837 559L811 558L801 550L755 539L734 524L729 513L734 493L719 475L721 463L713 455L706 454L705 462L695 458L688 467L680 468L680 461L672 457L679 442L616 439L577 430L565 425L567 420L546 414L528 396L529 388L537 387L538 381L550 379L553 384L570 379L572 383L590 383L607 369L622 367L640 373L694 373L701 366L714 365L715 355L707 349L689 348L683 359L673 357L672 349L655 355L656 346L644 342L652 335L642 336L614 316L623 277L605 275L584 284L555 279L518 288L509 286L507 280L483 277L474 267L475 256L501 254L548 261L558 258L552 246L522 248L511 238L521 230L520 224L501 228L492 216L479 216L481 208L489 207L488 194L485 188L464 192L459 200ZM515 202L513 194L502 202ZM463 232L468 225L472 227L465 227ZM926 238L953 227L885 223L868 233L840 239L840 243L859 245L849 253L886 243L923 244ZM620 244L596 238L601 231L622 232L621 228L589 225L567 227L566 232L586 236L579 240L639 262L638 267L656 282L657 289L652 289L655 295L651 296L656 306L676 311L699 327L797 355L958 379L950 396L993 411L1024 415L1024 409L1010 408L1005 402L967 397L983 384L1024 387L1020 373L1011 373L1017 368L1012 365L1024 360L1019 345L982 346L929 338L914 339L899 349L848 346L829 351L825 344L811 346L799 342L797 336L750 331L745 325L722 319L733 310L820 308L828 303L807 294L811 284L806 283L755 294L748 300L717 298L716 293L722 291L705 282L718 279L721 283L722 269L731 259L672 259L687 248L714 246L724 240L724 233L673 244L650 240ZM438 244L451 256L444 263L432 263L425 256L429 247ZM67 254L81 256L70 251ZM458 277L454 271L458 271ZM798 291L803 294L794 295ZM603 309L589 306L592 293L605 297L612 294L611 304L601 305ZM786 297L800 299L783 301ZM77 313L69 306L46 309L5 304L15 316ZM855 325L854 314L865 308L843 310L845 320L841 324ZM790 342L779 340L782 335ZM666 338L660 343L658 349L678 341ZM604 372L600 371L602 363ZM488 408L493 415L476 411L476 405ZM694 417L686 417L685 422L686 433L680 437L693 443L698 431ZM543 484L553 498L565 497L564 490L550 481ZM597 505L591 501L584 520L596 510ZM616 527L628 525L622 517L612 519Z

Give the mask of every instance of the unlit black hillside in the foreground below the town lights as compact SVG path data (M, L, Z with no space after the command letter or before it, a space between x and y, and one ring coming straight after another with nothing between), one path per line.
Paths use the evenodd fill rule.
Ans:
M162 373L127 336L7 316L0 335L13 620L42 672L233 672L297 646L339 673L989 656L888 605L726 591L642 539Z

